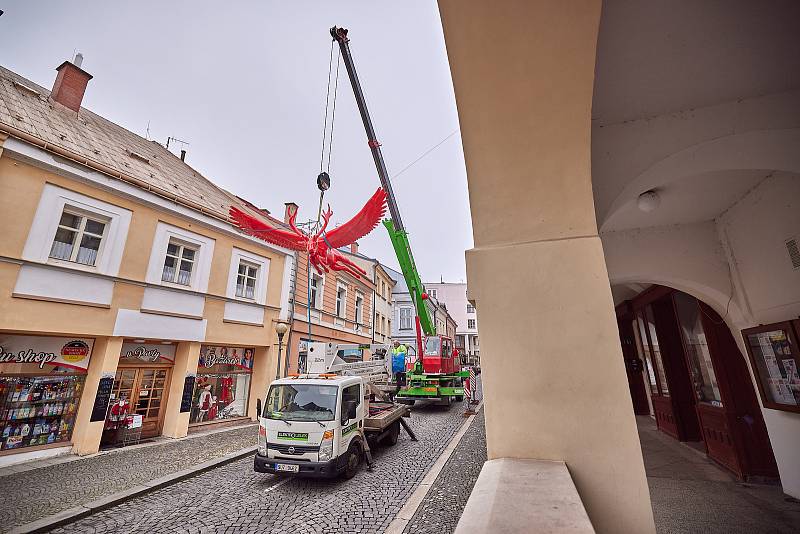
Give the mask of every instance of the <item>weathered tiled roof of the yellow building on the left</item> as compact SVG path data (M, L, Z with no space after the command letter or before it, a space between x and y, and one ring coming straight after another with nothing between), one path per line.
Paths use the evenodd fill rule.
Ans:
M236 205L253 212L227 191L217 187L172 152L118 124L81 108L74 112L48 99L50 91L0 67L0 130L3 125L74 153L91 162L130 176L140 187L174 195L195 209L227 219ZM264 213L255 212L264 217ZM278 222L268 217L273 224Z

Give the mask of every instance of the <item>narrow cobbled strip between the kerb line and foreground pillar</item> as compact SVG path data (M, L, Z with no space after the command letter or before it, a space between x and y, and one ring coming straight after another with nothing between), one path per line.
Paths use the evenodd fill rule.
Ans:
M404 532L450 534L486 461L483 410L472 421Z

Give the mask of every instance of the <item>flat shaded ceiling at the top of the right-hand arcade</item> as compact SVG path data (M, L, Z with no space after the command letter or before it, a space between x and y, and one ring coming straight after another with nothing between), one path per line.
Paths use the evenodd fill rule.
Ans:
M800 2L606 0L593 124L800 87Z

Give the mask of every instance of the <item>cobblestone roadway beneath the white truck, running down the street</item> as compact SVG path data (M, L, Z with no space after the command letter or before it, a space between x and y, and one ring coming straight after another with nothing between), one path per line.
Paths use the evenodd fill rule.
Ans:
M401 432L351 480L255 473L244 458L54 532L383 532L464 422L461 405L412 413L419 441Z

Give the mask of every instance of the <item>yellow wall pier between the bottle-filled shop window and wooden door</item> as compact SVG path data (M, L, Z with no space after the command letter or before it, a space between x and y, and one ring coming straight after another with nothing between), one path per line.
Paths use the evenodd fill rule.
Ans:
M121 351L121 337L98 337L94 341L81 402L75 416L75 428L72 430L72 452L75 454L93 454L100 450L105 421L90 422L89 419L92 416L100 378L105 373L112 376L116 374Z

